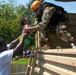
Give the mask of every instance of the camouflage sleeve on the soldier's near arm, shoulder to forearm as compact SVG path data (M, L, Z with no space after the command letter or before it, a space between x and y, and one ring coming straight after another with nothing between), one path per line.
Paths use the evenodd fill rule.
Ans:
M36 27L39 30L44 29L48 25L53 13L55 12L55 10L56 9L54 7L46 7L44 9L43 16L42 16L42 21L36 25Z

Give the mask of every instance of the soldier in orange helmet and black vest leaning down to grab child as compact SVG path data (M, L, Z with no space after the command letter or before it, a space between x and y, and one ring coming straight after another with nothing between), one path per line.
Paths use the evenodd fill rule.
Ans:
M48 2L41 4L40 1L34 1L31 5L31 10L35 12L37 18L35 26L27 28L27 32L29 29L30 31L43 30L43 34L50 41L49 35L51 30L54 29L57 36L63 41L74 42L73 36L66 31L65 23L68 22L68 15L64 8Z

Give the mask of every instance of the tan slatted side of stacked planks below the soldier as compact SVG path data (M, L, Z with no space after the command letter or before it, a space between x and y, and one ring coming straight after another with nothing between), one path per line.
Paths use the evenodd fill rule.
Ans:
M37 59L39 75L76 75L76 49L38 51Z

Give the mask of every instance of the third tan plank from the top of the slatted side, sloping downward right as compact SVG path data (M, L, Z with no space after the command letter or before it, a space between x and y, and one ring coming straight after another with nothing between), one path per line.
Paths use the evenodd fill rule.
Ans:
M73 72L71 70L67 70L65 68L62 68L62 67L59 67L59 66L55 66L55 65L52 65L52 64L49 64L49 63L45 63L44 64L43 62L40 62L38 65L40 65L43 68L46 68L46 69L48 69L50 71L56 72L59 75L76 75L76 72Z

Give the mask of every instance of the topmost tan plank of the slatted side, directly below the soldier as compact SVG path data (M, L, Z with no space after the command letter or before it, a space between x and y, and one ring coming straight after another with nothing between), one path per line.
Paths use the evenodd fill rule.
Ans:
M76 49L55 49L55 50L41 50L38 52L39 54L72 54L72 55L76 55Z

